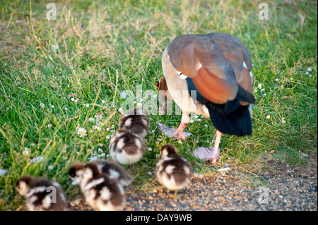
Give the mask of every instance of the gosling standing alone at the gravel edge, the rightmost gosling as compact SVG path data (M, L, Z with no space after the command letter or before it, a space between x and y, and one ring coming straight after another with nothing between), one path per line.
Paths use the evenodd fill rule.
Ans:
M155 165L155 175L161 185L169 190L182 189L188 185L192 177L192 169L187 162L177 153L177 147L164 145L160 150L161 159Z

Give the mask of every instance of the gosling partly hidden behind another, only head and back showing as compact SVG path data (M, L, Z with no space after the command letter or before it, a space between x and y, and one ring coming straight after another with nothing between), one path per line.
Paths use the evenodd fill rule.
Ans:
M105 174L111 179L118 181L122 186L129 186L133 178L117 162L98 159L90 163L96 164L100 173ZM73 185L81 183L86 164L75 163L69 168L69 176L73 180Z

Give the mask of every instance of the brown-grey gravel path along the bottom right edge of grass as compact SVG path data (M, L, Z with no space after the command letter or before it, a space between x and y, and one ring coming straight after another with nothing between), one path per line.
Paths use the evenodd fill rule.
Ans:
M243 174L235 169L206 176L195 175L179 190L148 193L126 188L127 211L201 210L301 210L317 211L317 160L305 168L269 162L261 174ZM231 167L231 166L229 166ZM171 192L172 194L173 192ZM91 210L85 200L71 203L71 210Z

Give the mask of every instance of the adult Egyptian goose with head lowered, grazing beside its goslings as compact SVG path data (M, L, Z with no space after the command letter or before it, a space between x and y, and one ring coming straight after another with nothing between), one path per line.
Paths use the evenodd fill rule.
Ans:
M216 142L206 158L214 164L221 135L252 134L252 59L239 39L224 33L181 35L165 48L162 66L160 83L166 85L158 86L166 86L182 109L175 138L184 139L191 112L211 118Z

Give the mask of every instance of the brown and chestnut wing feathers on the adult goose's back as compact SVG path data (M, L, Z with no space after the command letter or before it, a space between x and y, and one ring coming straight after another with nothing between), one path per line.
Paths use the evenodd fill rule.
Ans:
M168 47L170 61L177 71L192 78L197 90L216 104L235 99L238 86L252 94L249 51L228 34L182 35ZM243 62L247 68L243 67ZM249 96L242 105L253 99Z

